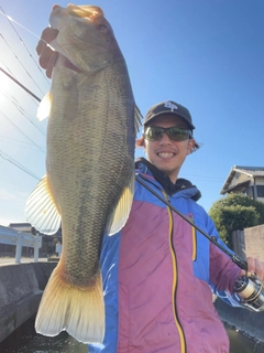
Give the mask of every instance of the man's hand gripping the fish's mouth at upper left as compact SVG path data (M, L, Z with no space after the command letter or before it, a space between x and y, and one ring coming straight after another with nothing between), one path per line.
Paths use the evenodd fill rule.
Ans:
M56 63L58 53L54 52L47 43L51 43L57 36L58 31L52 28L46 28L42 32L42 36L36 46L36 53L40 56L38 62L41 67L46 69L46 76L52 77L53 66Z

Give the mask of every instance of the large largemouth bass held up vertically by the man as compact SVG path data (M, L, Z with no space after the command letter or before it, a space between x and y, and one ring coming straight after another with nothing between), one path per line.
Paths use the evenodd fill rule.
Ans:
M30 195L25 214L40 232L61 226L63 252L45 288L35 328L66 330L76 340L101 342L105 304L99 257L103 233L127 222L134 188L135 107L123 55L100 8L55 6L50 18L59 55L48 110L46 175ZM65 57L73 69L65 67Z

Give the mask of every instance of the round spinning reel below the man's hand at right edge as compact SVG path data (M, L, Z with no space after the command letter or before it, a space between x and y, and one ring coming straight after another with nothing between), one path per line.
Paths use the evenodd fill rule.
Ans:
M264 286L250 272L234 281L234 293L239 302L252 311L264 311Z

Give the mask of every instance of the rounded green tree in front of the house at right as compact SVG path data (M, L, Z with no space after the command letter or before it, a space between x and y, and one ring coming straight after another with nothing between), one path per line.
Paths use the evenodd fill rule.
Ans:
M232 248L232 232L264 224L264 203L242 194L229 194L215 202L209 215L221 239Z

